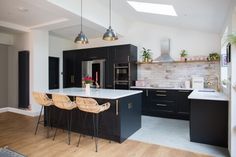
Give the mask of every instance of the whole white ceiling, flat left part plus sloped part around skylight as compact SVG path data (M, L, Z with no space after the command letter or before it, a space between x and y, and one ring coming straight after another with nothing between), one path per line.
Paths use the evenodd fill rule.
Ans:
M109 0L99 1L108 9ZM128 20L219 33L231 0L135 1L171 4L175 7L178 16L139 13L127 3L127 0L113 0L112 9ZM22 12L19 11L19 8L27 8L28 11ZM0 21L21 25L29 29L44 28L50 30L52 34L72 40L80 31L79 16L57 7L47 0L0 0ZM9 32L3 27L0 28L0 31ZM105 28L84 20L84 33L89 38L100 37L104 31Z

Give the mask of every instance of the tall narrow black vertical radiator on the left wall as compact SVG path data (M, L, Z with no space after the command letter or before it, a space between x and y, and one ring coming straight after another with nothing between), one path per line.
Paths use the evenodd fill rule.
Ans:
M29 107L29 51L20 51L18 54L18 107Z

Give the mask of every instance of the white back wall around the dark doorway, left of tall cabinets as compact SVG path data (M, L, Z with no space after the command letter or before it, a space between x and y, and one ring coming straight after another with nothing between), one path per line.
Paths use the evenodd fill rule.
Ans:
M73 41L57 37L54 35L49 35L49 56L59 57L60 59L60 88L63 87L63 51L76 49L76 44Z

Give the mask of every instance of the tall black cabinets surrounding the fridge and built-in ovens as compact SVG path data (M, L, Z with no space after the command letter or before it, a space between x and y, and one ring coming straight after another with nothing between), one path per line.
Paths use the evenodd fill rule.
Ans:
M63 87L82 86L82 61L105 59L105 88L114 88L113 65L131 63L131 79L137 79L137 47L118 45L89 49L69 50L63 52ZM134 81L133 81L134 83Z

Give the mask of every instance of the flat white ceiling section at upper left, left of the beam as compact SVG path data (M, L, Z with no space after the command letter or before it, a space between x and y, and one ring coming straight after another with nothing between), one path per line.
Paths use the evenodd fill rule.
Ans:
M28 11L20 11L25 8ZM80 17L55 6L46 0L0 0L0 21L29 29L49 30L51 34L74 40L80 32ZM84 19L84 33L89 38L101 36L105 28ZM89 26L89 27L88 27ZM0 26L0 32L9 34L18 31Z

